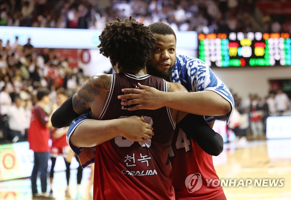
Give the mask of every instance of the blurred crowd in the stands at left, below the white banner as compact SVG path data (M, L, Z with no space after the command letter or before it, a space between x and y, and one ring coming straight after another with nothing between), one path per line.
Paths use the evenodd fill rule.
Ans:
M35 49L27 44L6 42L0 38L0 141L25 139L30 125L31 108L41 88L50 89L51 104L56 103L56 91L63 89L70 96L88 78L82 70L69 67L66 58L58 58L54 49ZM47 106L50 113L51 105ZM15 131L23 137L14 137Z

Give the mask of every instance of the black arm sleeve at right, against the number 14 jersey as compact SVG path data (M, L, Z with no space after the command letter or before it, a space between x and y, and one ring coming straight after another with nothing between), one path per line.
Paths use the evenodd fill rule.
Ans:
M223 151L223 138L210 128L202 115L188 114L181 120L180 126L206 153L218 156Z

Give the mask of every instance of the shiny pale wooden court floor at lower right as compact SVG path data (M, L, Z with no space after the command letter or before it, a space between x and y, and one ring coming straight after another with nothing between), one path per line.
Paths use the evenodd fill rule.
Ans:
M213 161L220 179L251 179L252 184L223 187L228 200L291 199L291 140L233 142ZM223 162L223 163L221 163ZM283 179L283 186L254 187L255 179ZM263 181L263 180L262 180ZM267 181L269 182L269 181ZM269 184L268 184L269 185Z

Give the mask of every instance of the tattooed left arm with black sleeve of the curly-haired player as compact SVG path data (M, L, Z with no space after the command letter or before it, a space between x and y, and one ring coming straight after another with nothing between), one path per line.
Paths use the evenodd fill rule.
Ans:
M81 88L52 115L55 128L69 126L79 115L92 110L93 117L98 119L104 102L109 94L112 75L96 74L91 76Z

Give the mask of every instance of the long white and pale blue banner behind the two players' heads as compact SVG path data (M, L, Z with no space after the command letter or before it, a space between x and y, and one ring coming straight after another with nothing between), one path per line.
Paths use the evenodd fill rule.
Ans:
M0 39L3 40L3 45L6 45L7 40L13 44L18 36L19 44L24 45L31 38L31 44L35 48L97 49L101 32L101 29L0 26ZM196 31L177 31L175 34L177 48L198 49Z

